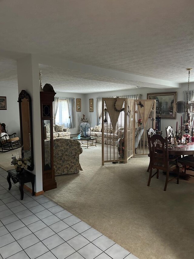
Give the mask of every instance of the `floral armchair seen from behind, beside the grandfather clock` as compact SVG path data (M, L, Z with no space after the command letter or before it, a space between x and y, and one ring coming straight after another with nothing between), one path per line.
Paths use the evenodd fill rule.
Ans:
M79 155L83 149L76 139L56 138L53 140L55 176L75 174L82 170Z

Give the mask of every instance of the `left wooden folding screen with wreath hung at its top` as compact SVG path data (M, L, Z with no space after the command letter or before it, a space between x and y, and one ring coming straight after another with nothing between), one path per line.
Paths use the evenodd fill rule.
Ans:
M134 100L102 98L102 165L133 156Z

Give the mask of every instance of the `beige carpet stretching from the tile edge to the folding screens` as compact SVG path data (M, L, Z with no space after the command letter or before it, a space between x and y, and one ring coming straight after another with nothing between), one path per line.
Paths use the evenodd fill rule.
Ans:
M164 192L162 173L147 187L148 157L102 166L100 144L83 149L83 171L45 195L140 259L193 259L194 178Z

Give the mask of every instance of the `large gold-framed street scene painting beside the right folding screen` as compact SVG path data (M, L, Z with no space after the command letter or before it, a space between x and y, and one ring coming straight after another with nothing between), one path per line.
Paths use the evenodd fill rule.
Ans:
M164 119L176 119L177 92L151 93L147 99L156 100L156 116Z

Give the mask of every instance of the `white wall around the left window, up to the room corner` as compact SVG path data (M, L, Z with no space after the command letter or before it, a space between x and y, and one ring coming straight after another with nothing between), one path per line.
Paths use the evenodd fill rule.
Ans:
M55 88L54 88L54 90L55 90ZM83 118L83 114L85 114L85 94L65 93L65 92L57 92L57 91L55 91L55 92L56 92L55 97L75 98L75 106L76 106L76 98L81 99L81 111L76 111L76 107L75 107L75 121L76 121L75 128L70 128L71 135L79 134L79 124L81 123L81 118ZM88 103L89 103L89 100L88 100ZM86 115L85 118L88 118L87 114L85 114L85 115Z

